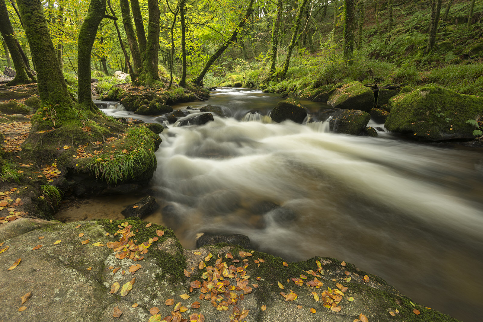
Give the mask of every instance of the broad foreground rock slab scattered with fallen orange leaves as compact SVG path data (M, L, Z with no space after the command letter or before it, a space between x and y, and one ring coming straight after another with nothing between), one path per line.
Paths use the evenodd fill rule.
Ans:
M146 222L141 220L110 222L108 219L100 219L50 225L43 222L36 223L34 227L31 226L32 220L26 218L20 222L17 229L14 229L19 234L14 237L5 237L0 230L0 242L4 242L2 248L9 247L1 254L0 321L147 322L154 316L150 308L153 311L158 308L159 315L154 316L158 321L172 315L180 319L190 319L190 316L194 319L193 314L197 317L200 314L204 321L230 321L233 320L230 315L235 315L236 319L246 322L347 322L365 317L369 321L402 322L424 318L431 322L457 322L401 295L382 278L333 258L313 257L302 262L288 262L288 266L284 266L286 260L283 258L264 252L252 252L240 246L206 245L187 250L181 246L171 229L157 224L146 227ZM8 226L14 222L2 225ZM117 233L119 230L124 233ZM80 233L84 235L79 237ZM117 236L114 236L115 233ZM131 233L134 235L128 237ZM39 236L44 238L39 240ZM132 243L132 247L139 247L143 242L149 243L150 238L157 240L151 239L147 252L141 255L142 260L133 261L129 259L132 252L126 258L119 259L116 254L119 257L122 252L114 252L107 247L113 247L108 243L119 242L120 238L124 238L126 243ZM57 240L59 242L54 245ZM81 242L84 240L87 243L83 245ZM32 251L39 244L42 247ZM224 287L227 290L230 286L236 287L238 283L240 290L225 293L225 290L217 292L213 289L212 292L221 296L221 300L215 301L213 307L209 300L199 299L200 296L204 298L205 294L201 291L207 289L205 282L208 283L208 277L203 279L202 276L209 274L208 267L204 266L216 267L221 274L225 274L225 263L226 266L232 265L230 257L240 261L234 265L242 267L242 271L230 270L233 277L224 277ZM20 264L7 270L19 258ZM248 266L242 265L243 260ZM116 273L114 268L119 268ZM310 270L316 276L308 274ZM123 271L125 274L122 274ZM241 274L251 276L248 284L241 278ZM301 280L301 286L296 286L292 281L287 282L287 279L299 279L301 274L308 276L307 280ZM367 282L364 282L365 275ZM348 280L348 277L351 279ZM111 292L114 283L119 284L119 289ZM199 283L201 288L197 288ZM279 283L284 285L284 290L279 288ZM338 289L337 283L347 287L347 290L344 290L344 296L335 311L323 306L323 298L319 302L314 300L311 292L320 296L323 291L328 292L328 288ZM191 286L192 292L190 285L194 285ZM281 294L281 291L289 294L291 290L294 294L289 298ZM30 297L27 296L27 301L21 304L21 297L28 293ZM241 312L236 309L234 312L234 305L229 300L231 294L236 295L236 305ZM183 300L179 295L190 298ZM174 306L164 304L173 298L174 303L181 302L188 310L173 312ZM199 303L199 308L191 307L194 302ZM23 307L25 309L19 311ZM316 313L311 313L309 308L315 308ZM337 312L339 308L341 310ZM420 314L416 316L414 309ZM396 310L396 317L391 317L389 312ZM119 312L120 318L114 318L114 312ZM241 313L244 313L242 317Z

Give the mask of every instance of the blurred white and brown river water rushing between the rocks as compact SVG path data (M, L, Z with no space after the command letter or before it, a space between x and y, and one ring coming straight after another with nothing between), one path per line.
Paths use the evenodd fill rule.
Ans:
M163 210L146 220L169 226L188 248L208 231L247 235L291 261L335 257L427 307L482 319L482 151L385 132L333 134L321 122L272 124L266 115L281 99L273 94L212 95L196 105L222 106L231 117L161 133L151 188Z

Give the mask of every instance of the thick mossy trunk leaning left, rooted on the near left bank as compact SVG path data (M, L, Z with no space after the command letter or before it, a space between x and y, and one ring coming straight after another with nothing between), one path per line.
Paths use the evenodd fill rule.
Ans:
M43 6L40 0L17 0L17 4L32 59L37 67L40 99L44 105L55 109L57 120L69 119L68 114L72 109L73 102L57 62L57 53L43 15ZM39 117L42 116L38 115L37 118L34 116L32 120L42 121L42 118L39 120Z

